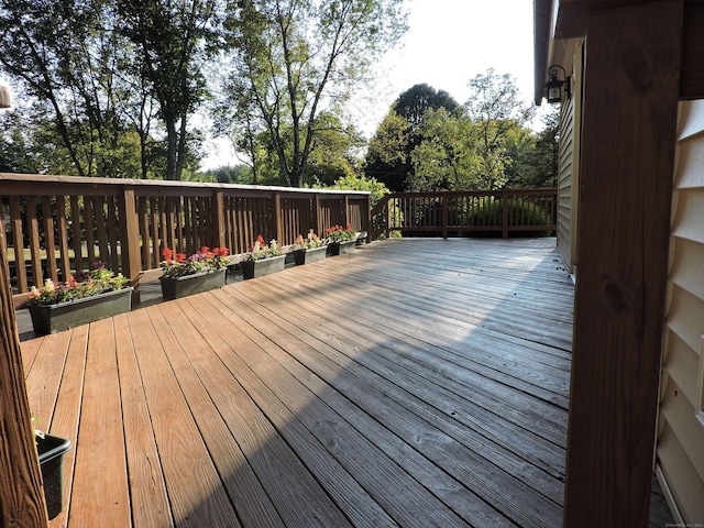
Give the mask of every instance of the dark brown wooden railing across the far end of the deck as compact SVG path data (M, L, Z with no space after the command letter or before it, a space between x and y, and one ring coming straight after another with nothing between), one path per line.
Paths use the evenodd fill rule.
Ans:
M437 234L554 232L557 189L502 189L461 193L395 193L372 210L376 240L394 231Z

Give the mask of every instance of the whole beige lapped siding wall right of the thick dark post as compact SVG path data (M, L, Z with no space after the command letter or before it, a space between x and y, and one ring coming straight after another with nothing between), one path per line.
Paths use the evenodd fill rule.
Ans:
M681 103L656 464L683 522L704 521L704 101Z

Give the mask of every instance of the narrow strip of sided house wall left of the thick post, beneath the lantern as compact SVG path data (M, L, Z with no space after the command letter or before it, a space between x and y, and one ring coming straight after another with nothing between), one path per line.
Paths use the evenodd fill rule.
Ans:
M568 72L570 68L565 68ZM558 162L558 249L570 273L576 268L576 216L582 116L582 45L578 45L572 67L572 97L560 110Z

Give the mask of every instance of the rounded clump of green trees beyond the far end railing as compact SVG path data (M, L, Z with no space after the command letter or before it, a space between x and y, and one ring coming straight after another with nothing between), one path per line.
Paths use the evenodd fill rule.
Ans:
M488 69L462 106L427 85L402 94L370 142L365 173L395 191L493 190L554 184L557 119L541 134L515 79Z

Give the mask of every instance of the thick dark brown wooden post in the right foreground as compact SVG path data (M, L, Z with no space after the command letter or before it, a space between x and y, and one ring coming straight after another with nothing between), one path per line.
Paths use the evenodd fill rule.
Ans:
M564 526L646 527L683 2L592 11Z

